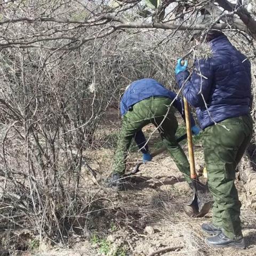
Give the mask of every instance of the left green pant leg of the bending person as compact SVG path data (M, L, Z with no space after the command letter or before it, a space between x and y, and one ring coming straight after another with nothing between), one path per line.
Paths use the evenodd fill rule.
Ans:
M117 148L114 155L114 161L112 166L112 172L118 174L124 174L127 151L131 145L131 141L134 138L136 132L150 123L150 119L147 116L150 113L150 102L146 100L140 101L134 105L131 111L127 111L122 120L121 132L117 142Z

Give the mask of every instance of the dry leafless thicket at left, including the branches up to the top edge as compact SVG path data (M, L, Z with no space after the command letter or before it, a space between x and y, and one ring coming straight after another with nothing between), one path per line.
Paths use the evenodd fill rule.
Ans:
M114 9L103 2L0 5L1 218L9 228L31 227L65 242L78 217L91 218L95 198L82 186L89 178L82 166L90 169L84 150L99 146L99 125L129 83L151 77L174 89L175 61L193 50L189 31L209 4L165 1L161 23L159 9L141 15L148 11L141 1ZM225 28L251 58L255 82L253 35Z

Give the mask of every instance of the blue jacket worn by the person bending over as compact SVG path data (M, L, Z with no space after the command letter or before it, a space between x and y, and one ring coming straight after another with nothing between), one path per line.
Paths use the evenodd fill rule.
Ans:
M125 115L135 103L148 99L153 96L166 97L173 101L173 107L177 108L182 118L185 120L184 103L176 93L167 90L162 84L158 83L155 79L145 78L137 80L127 87L120 102L121 115ZM193 116L190 116L191 126L195 125ZM142 131L137 132L134 135L134 139L141 149L143 154L148 152L148 146L146 145L146 138Z

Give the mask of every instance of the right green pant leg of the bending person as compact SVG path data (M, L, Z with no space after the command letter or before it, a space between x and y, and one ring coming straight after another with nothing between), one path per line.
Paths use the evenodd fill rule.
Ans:
M185 180L188 183L191 183L190 167L187 156L175 138L178 122L174 115L174 108L170 107L169 113L167 113L167 106L169 106L171 102L172 100L170 99L156 98L154 101L155 118L153 118L151 122L158 127L164 146L166 146L174 163L184 175Z

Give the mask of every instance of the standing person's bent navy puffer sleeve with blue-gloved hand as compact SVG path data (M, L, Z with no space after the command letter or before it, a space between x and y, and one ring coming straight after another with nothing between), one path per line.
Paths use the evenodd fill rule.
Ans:
M179 87L183 86L183 95L191 106L206 108L204 101L207 102L209 100L213 81L210 59L197 60L191 77L189 79L188 77L187 70L181 71L176 75Z

